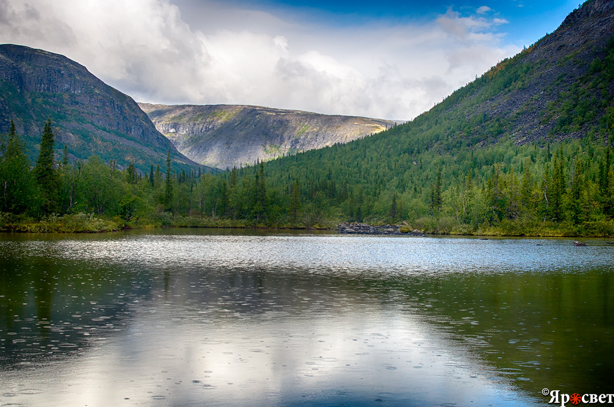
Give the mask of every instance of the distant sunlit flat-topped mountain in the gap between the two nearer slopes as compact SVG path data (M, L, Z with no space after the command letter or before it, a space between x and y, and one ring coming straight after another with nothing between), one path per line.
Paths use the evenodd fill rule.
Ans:
M346 143L395 125L390 120L260 106L139 106L186 157L221 169Z

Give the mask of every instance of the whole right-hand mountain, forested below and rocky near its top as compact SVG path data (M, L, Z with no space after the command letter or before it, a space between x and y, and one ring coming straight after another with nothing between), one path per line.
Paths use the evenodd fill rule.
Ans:
M290 192L300 188L306 224L405 220L438 232L511 225L496 233L577 236L609 222L603 233L612 235L613 34L614 1L586 1L411 122L265 163L267 187L297 219Z

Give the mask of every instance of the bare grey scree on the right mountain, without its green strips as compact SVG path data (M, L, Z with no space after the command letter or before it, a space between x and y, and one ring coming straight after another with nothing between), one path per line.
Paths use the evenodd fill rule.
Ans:
M526 83L516 88L511 86L499 95L476 103L467 115L508 120L506 130L518 144L547 137L559 120L558 115L549 115L552 104L558 103L559 97L569 92L589 71L594 58L603 59L602 50L613 35L614 1L585 2L570 13L556 31L515 58L527 66L530 79ZM529 67L538 75L532 76ZM500 68L507 68L505 61ZM522 81L516 83L519 82ZM609 91L614 93L614 83L610 83ZM597 116L599 113L596 112ZM555 134L555 138L584 136L598 119L585 123L575 133Z

